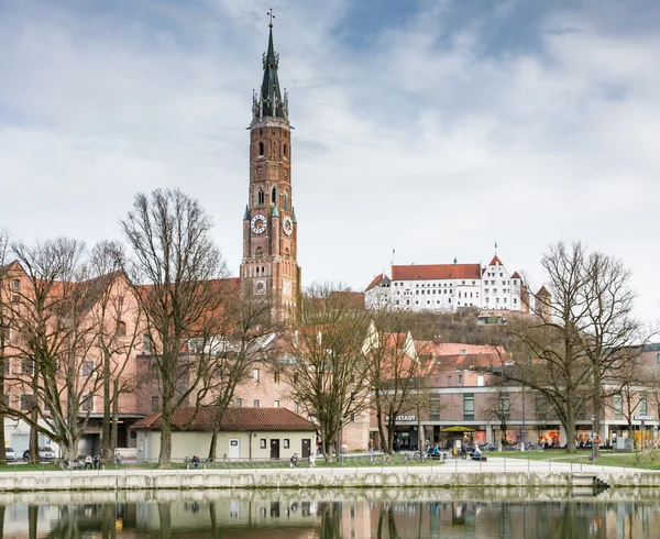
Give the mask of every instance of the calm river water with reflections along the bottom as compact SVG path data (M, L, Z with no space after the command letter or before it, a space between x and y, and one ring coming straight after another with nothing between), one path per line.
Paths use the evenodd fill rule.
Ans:
M660 537L652 490L359 490L0 494L6 538Z

